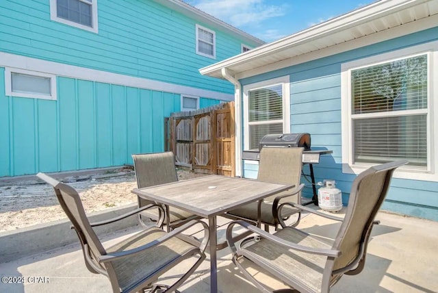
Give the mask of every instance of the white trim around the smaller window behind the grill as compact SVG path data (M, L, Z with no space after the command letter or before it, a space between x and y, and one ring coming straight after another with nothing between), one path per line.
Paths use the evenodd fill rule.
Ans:
M283 85L283 133L290 132L290 84L289 84L289 75L283 77L276 77L274 79L269 79L265 81L259 81L255 84L248 84L244 86L243 89L243 115L244 115L244 151L249 149L249 103L248 103L248 90L257 90L258 88L265 88L267 86L274 86L276 84ZM272 123L279 123L281 120L273 120ZM263 124L266 122L263 122ZM245 164L255 164L258 165L257 161L245 161Z

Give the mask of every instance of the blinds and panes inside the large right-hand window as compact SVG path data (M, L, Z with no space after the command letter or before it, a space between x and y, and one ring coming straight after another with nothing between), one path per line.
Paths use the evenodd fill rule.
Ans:
M405 158L426 168L427 55L359 68L351 76L355 162Z

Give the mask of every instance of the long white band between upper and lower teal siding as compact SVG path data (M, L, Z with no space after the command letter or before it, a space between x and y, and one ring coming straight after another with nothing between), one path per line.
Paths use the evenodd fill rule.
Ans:
M51 75L71 77L75 79L84 79L98 81L107 84L118 84L120 86L132 86L133 88L144 88L146 90L158 90L161 92L172 92L175 94L189 94L192 96L205 97L210 99L220 99L222 101L234 101L233 94L216 92L213 90L203 90L201 88L192 88L190 86L181 86L179 84L170 84L164 81L145 79L142 77L133 77L119 73L110 73L107 71L98 71L96 69L62 64L47 60L30 58L22 55L0 52L0 66L21 68L29 71L48 73Z

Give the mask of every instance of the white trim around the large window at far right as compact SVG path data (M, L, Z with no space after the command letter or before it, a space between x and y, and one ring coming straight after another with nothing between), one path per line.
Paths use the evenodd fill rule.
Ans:
M353 69L385 63L392 60L409 58L413 55L428 54L428 168L418 170L412 166L403 166L396 170L394 177L422 181L438 181L438 41L391 51L370 58L347 62L341 66L341 112L342 112L342 172L359 174L372 164L352 164L352 111L351 111L351 71ZM414 111L417 112L417 111Z

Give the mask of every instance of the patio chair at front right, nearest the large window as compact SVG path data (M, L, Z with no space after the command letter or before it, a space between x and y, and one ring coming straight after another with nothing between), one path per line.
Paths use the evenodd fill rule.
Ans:
M344 219L315 212L313 209L292 205L319 216L342 221L332 244L321 242L315 236L300 229L286 227L269 234L248 222L237 220L227 227L227 242L233 254L233 262L244 272L261 292L329 292L342 275L357 275L365 266L368 240L378 209L387 194L392 173L406 160L390 162L363 171L352 183L350 199ZM280 209L281 209L280 207ZM236 246L231 233L235 225L255 233L258 241L243 240ZM254 236L253 236L254 237ZM244 269L242 262L267 270L289 288L271 291Z

